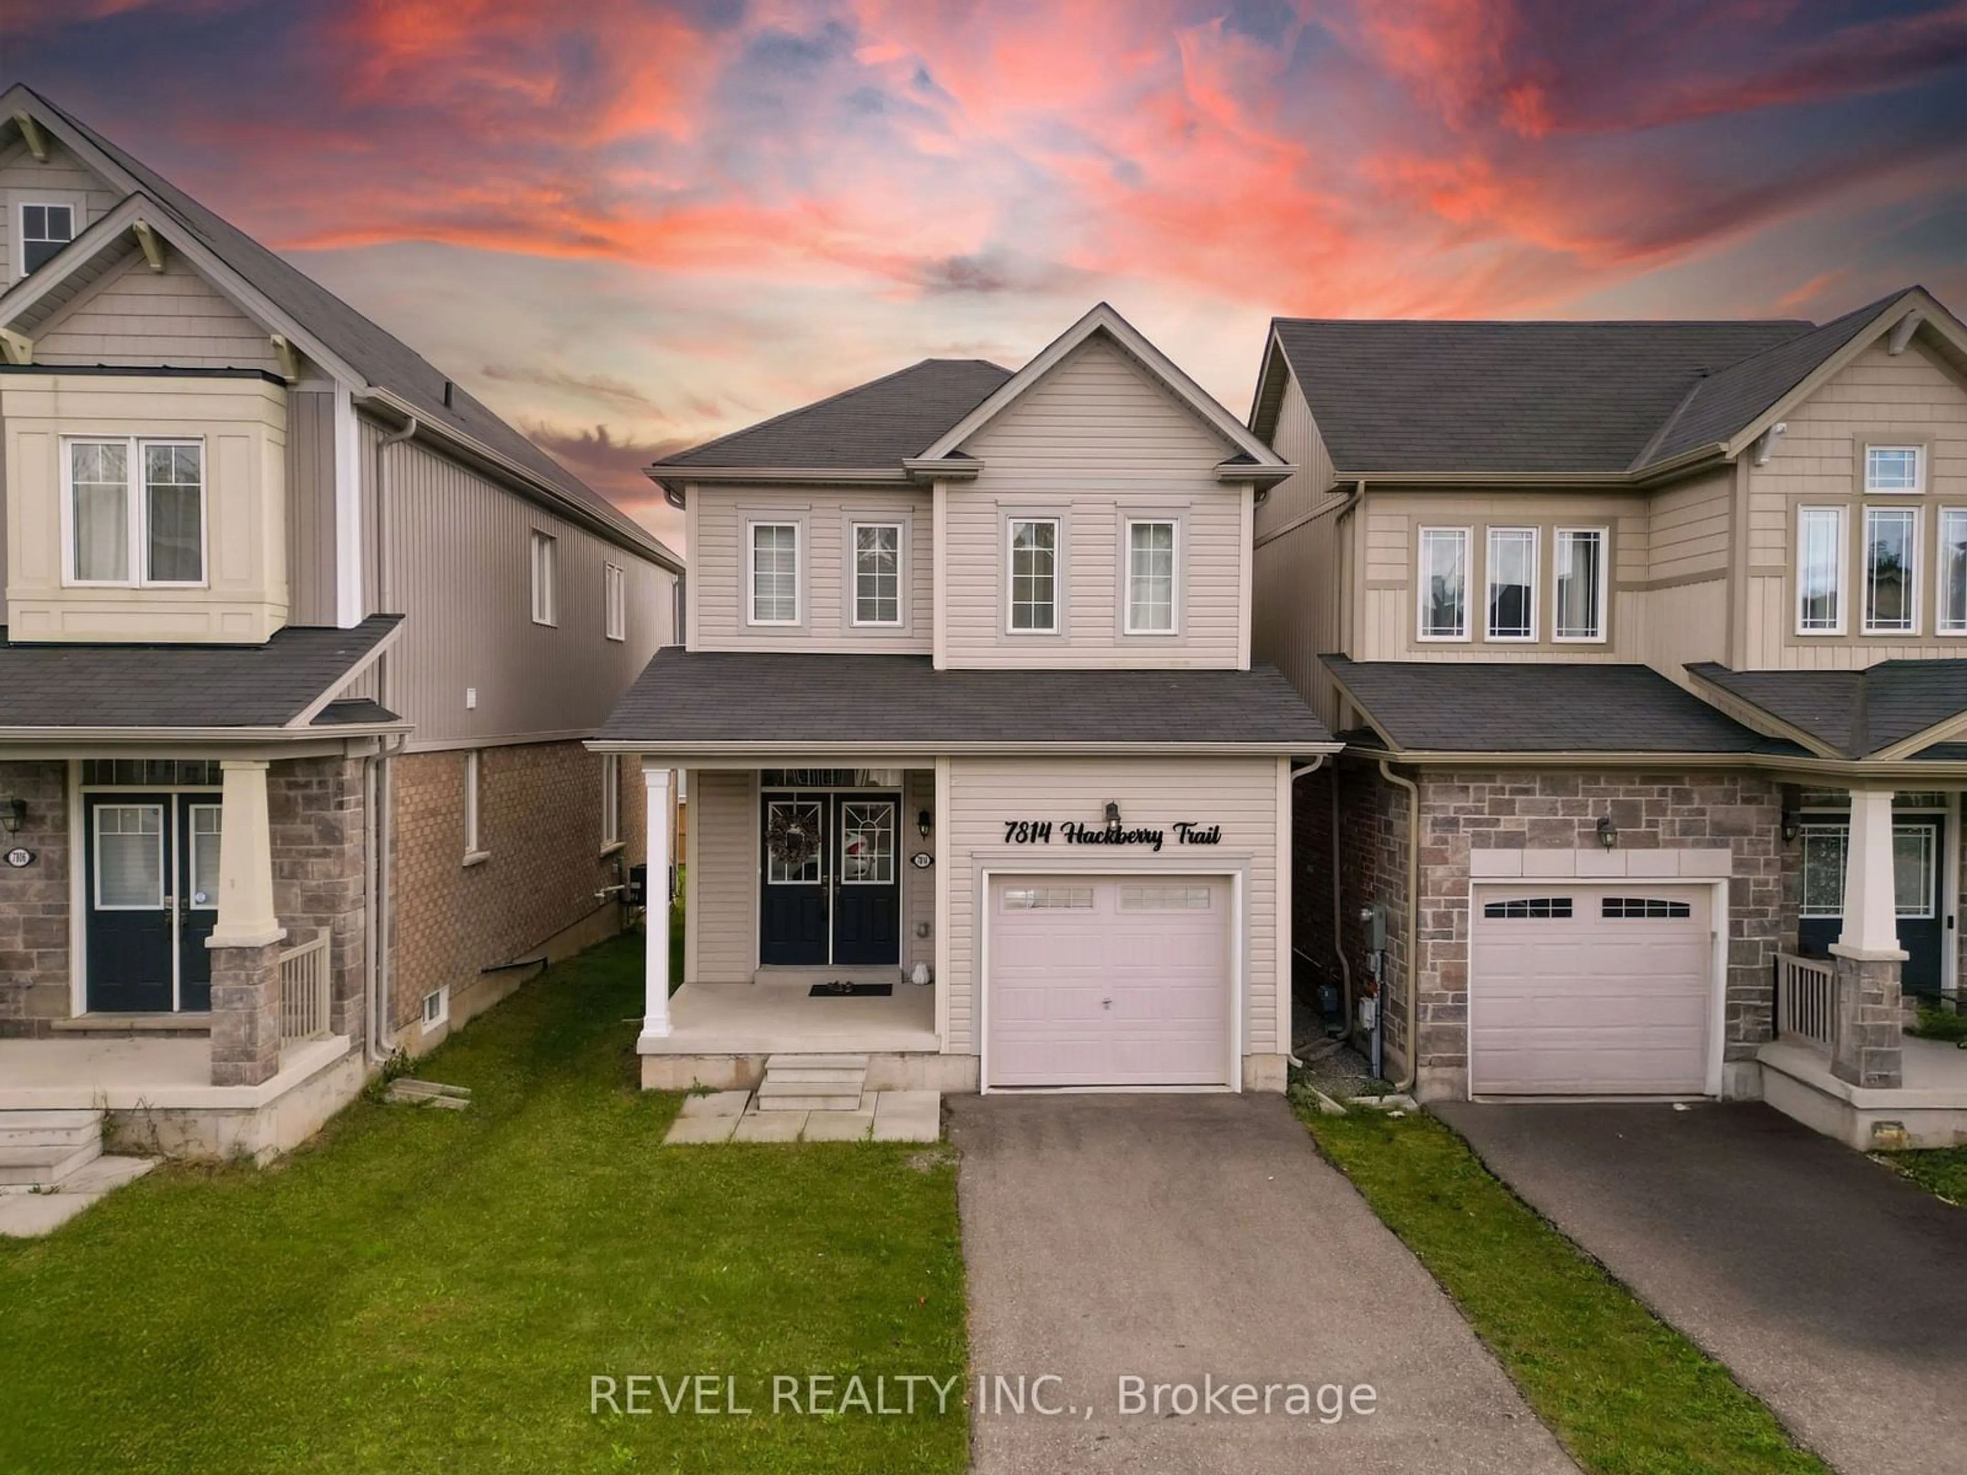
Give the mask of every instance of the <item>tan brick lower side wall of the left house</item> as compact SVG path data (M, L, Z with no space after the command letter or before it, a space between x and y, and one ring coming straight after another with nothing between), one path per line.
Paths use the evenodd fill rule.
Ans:
M478 844L488 857L464 865L464 751L407 753L393 767L391 997L415 1050L427 993L448 983L456 1023L529 975L482 970L533 958L578 922L618 924L620 913L602 911L594 893L643 856L643 781L624 757L624 852L604 857L600 755L580 743L486 747Z

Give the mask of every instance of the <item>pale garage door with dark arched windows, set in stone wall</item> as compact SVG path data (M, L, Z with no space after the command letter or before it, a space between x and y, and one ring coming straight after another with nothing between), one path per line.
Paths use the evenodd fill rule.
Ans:
M1469 1090L1699 1095L1707 1090L1707 887L1475 887Z

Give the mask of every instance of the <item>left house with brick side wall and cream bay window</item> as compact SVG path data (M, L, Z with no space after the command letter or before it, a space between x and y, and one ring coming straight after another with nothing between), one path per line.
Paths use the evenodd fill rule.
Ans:
M580 739L681 564L77 118L0 120L0 1107L277 1149L620 926L641 781Z

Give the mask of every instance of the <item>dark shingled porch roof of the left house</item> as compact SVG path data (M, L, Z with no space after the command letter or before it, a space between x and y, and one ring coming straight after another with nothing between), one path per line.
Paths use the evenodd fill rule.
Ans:
M0 629L0 728L283 728L399 621L289 625L266 645L12 645ZM340 720L395 720L376 712Z

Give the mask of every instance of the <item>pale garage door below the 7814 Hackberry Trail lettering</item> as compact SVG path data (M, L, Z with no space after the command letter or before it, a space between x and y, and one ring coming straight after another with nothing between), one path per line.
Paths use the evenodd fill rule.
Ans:
M995 877L991 1086L1222 1086L1229 883Z

